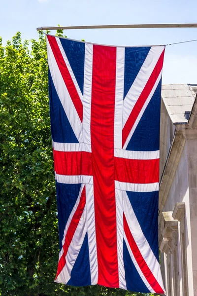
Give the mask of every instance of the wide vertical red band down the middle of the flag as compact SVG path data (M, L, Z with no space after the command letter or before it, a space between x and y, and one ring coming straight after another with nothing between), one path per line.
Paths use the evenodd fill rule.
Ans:
M114 186L116 48L94 45L91 143L98 252L98 284L119 287Z

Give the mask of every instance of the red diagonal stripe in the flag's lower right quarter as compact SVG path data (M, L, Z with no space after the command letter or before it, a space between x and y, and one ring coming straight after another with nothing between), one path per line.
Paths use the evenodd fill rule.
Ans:
M162 289L162 287L160 286L160 284L158 283L158 281L156 280L156 278L154 277L153 273L151 272L150 268L148 267L148 265L146 264L146 261L143 259L136 243L135 240L132 236L132 233L130 231L129 225L127 223L125 214L123 214L123 221L124 221L124 231L125 234L127 236L132 254L135 258L135 260L137 261L137 264L139 265L139 268L141 269L143 275L145 276L146 280L148 281L149 285L153 288L153 290L156 293L161 293L163 294L164 291Z

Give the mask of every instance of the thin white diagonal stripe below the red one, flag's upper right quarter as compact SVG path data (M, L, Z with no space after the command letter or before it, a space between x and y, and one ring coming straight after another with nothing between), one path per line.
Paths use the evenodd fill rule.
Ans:
M134 133L134 131L135 131L135 129L136 129L138 123L139 123L139 120L141 119L141 117L142 117L144 111L146 110L146 107L148 106L148 104L149 104L149 102L150 102L152 96L154 95L155 90L156 90L156 88L157 88L157 86L158 86L158 84L159 84L161 78L162 78L162 71L160 72L160 74L159 74L159 76L158 76L158 78L157 78L157 80L156 80L156 82L155 82L155 84L154 84L154 86L153 86L153 88L152 88L152 90L151 90L151 92L150 92L150 94L149 94L149 96L148 96L146 102L144 103L144 105L143 105L141 111L139 112L139 115L137 116L137 119L135 120L135 123L133 124L133 126L132 126L132 128L131 128L131 132L129 133L129 136L127 137L127 140L126 140L126 142L125 142L125 145L124 145L123 149L126 149L126 148L127 148L128 144L129 144L129 142L130 142L130 140L131 140L131 137L132 137L132 135L133 135L133 133ZM154 114L153 114L153 116L154 116Z

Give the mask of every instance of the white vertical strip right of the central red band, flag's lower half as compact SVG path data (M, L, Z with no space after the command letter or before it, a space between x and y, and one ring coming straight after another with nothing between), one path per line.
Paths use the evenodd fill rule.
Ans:
M127 290L125 279L125 267L123 259L123 191L115 190L116 194L116 225L117 225L117 253L118 253L118 277L119 287Z

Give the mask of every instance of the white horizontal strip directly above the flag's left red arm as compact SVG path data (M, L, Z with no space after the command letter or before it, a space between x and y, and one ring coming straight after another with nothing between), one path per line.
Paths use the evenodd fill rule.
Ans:
M53 148L56 151L64 151L64 152L71 152L71 151L91 152L91 145L86 143L58 143L53 141Z

